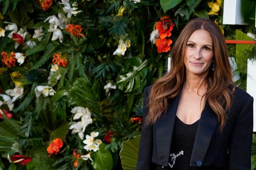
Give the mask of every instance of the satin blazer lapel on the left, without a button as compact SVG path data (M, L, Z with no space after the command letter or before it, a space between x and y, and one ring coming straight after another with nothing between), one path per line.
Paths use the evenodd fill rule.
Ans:
M168 166L172 131L180 98L181 93L170 100L166 114L155 124L158 159L160 165L163 166Z

